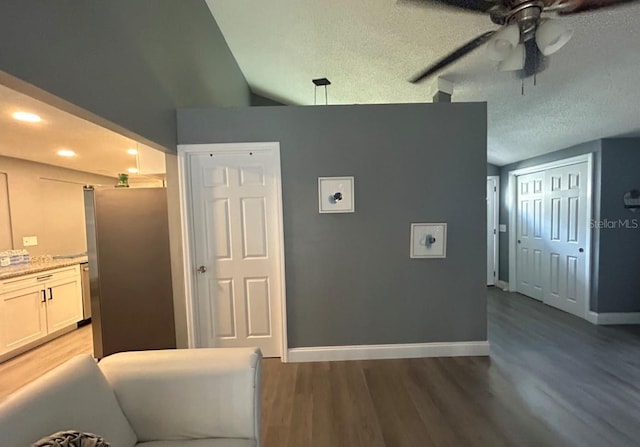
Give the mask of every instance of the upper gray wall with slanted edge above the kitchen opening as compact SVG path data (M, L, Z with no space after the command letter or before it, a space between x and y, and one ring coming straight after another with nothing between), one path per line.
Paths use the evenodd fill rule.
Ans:
M0 70L170 150L176 108L249 105L204 0L0 2Z

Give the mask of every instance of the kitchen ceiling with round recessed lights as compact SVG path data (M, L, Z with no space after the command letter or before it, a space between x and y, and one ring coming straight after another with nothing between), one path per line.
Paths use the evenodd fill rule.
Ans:
M16 121L12 115L17 111L35 113L42 121ZM150 159L145 165L153 168L149 176L130 175L132 182L162 178L162 152L0 85L0 155L116 178L137 166L136 156L127 153L131 148L138 149L140 164ZM60 157L59 149L77 155Z

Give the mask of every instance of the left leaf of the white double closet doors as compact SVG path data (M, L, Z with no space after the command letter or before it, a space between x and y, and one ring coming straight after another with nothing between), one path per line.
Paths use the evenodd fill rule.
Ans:
M516 266L517 291L542 301L544 172L517 177Z

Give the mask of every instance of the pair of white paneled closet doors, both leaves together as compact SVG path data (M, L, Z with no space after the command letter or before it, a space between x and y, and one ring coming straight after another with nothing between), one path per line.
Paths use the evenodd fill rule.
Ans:
M585 317L586 162L517 177L517 291Z

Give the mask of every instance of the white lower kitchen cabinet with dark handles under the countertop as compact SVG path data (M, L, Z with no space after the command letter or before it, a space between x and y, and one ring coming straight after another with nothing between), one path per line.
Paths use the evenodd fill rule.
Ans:
M0 281L0 360L61 335L80 320L79 265Z

